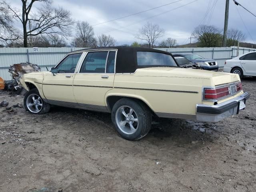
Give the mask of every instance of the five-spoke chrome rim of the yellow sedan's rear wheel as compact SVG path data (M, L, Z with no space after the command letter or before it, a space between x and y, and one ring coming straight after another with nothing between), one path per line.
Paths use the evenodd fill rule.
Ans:
M139 121L134 109L129 106L120 106L116 111L116 124L124 134L135 133Z

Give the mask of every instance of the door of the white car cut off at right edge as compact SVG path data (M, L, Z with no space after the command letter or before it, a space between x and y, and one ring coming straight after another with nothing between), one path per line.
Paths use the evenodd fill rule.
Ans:
M256 75L256 52L240 57L240 63L246 71L246 74Z

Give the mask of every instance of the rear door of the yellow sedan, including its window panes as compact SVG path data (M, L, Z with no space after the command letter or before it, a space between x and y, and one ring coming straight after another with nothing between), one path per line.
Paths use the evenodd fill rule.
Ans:
M79 106L93 110L106 110L104 98L113 88L116 50L89 51L81 63L73 82Z

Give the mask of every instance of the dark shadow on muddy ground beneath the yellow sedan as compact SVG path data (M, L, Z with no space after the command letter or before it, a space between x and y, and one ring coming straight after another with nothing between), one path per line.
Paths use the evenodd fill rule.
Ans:
M111 120L111 114L104 112L94 112L88 110L53 106L50 112L53 116L69 116L74 121L84 119L87 122L101 122L116 132ZM63 114L64 113L64 114ZM118 133L116 132L118 135ZM194 120L152 118L152 127L148 135L143 140L180 140L189 143L196 140L212 141L218 136L218 128L212 123L196 122Z

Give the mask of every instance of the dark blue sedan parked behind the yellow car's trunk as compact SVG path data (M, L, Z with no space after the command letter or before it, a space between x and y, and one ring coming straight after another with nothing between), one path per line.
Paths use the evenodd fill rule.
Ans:
M218 69L219 69L219 66L218 66L218 63L216 60L206 59L206 58L201 57L198 54L174 53L172 55L174 57L178 57L178 56L184 57L184 58L190 60L190 62L200 65L200 67L203 68L204 70L218 71Z

